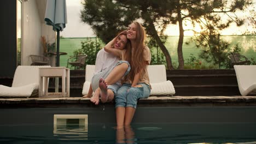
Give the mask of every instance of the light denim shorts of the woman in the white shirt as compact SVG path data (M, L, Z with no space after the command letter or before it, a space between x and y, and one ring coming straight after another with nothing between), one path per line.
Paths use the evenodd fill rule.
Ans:
M95 90L98 88L98 81L100 81L101 78L106 79L106 77L110 74L110 72L117 67L117 65L122 64L122 63L127 63L129 65L128 69L126 70L125 75L129 74L130 72L130 64L127 61L118 61L117 64L113 65L113 67L109 67L107 69L104 69L96 74L94 74L94 76L92 76L91 79L91 86L92 86L92 90L95 92ZM114 83L113 85L108 85L108 89L111 89L114 94L117 93L118 89L121 87L121 82L118 81L116 83Z

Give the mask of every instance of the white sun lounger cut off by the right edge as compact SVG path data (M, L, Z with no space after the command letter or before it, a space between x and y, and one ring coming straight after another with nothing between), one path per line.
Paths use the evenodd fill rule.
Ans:
M256 65L234 65L241 95L256 95Z

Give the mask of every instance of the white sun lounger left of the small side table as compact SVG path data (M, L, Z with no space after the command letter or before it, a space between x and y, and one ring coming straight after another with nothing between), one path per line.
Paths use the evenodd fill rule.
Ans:
M19 65L15 70L12 86L0 85L0 98L38 97L39 68L45 67L50 66Z

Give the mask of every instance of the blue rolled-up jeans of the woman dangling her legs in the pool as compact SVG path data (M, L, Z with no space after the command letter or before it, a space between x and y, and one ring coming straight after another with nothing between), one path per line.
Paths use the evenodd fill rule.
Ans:
M138 85L142 87L131 87L131 83L124 83L115 95L115 107L133 107L136 109L138 99L148 98L150 95L149 85L146 83L138 83Z

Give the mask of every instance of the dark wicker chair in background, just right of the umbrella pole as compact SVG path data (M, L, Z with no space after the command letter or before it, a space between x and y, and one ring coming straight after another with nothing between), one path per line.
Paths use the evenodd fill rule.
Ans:
M69 57L67 62L67 68L69 64L75 67L75 69L84 68L86 57L87 55L78 55L78 56ZM73 59L75 59L75 61L72 61Z

